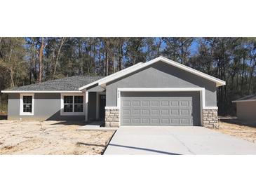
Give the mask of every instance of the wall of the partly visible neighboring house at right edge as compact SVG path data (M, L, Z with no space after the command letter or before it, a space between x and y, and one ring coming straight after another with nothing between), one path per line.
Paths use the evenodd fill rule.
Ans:
M236 102L236 116L241 120L256 121L256 102Z

